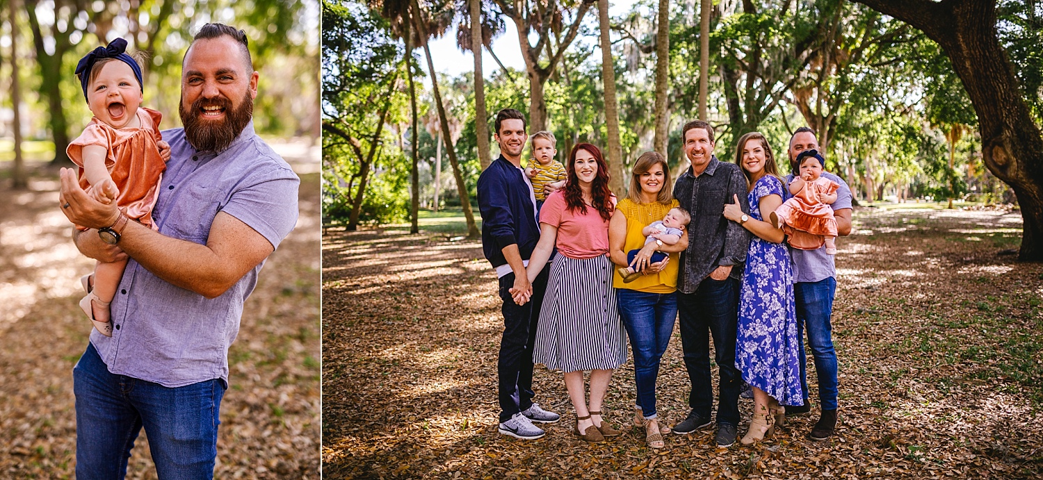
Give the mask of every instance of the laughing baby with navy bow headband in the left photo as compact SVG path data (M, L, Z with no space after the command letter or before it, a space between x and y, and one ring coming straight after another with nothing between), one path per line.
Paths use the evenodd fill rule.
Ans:
M79 167L79 184L88 195L104 204L116 202L127 218L157 230L152 222L152 206L170 148L160 136L163 116L140 107L144 99L141 66L125 53L126 45L125 40L116 39L107 47L88 53L76 66L76 76L94 118L66 152ZM99 234L103 231L99 230ZM115 245L119 236L110 233L102 239ZM125 267L126 260L98 261L94 274L80 279L87 297L79 306L106 336L113 336L108 304Z

